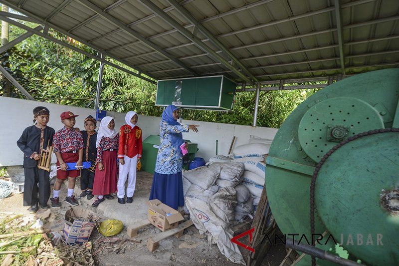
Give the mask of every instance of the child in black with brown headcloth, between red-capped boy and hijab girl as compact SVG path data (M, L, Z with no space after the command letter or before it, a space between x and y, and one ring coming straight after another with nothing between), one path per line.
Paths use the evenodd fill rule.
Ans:
M83 160L85 162L90 162L93 166L96 163L97 158L97 132L95 131L97 127L97 121L94 117L89 115L84 119L84 128L86 130L80 131L83 135ZM94 182L94 171L91 172L89 169L80 170L80 197L86 197L91 200L93 196L93 182Z

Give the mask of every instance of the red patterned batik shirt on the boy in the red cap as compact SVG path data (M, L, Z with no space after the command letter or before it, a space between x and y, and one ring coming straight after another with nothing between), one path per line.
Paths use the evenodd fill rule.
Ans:
M80 131L75 129L61 128L55 132L53 138L54 152L71 152L83 149L83 136Z

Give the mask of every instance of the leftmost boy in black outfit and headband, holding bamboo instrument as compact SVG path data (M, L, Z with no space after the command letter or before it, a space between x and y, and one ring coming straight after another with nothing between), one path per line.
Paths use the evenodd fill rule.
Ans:
M54 129L47 126L50 111L44 106L33 109L33 126L25 128L16 145L23 152L23 172L25 182L23 186L23 206L30 206L29 213L41 209L48 209L50 198L50 173L37 168L41 152L52 145Z

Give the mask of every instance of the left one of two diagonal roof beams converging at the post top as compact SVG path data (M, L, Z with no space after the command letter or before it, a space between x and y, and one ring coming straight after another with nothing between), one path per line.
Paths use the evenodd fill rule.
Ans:
M254 81L250 80L247 76L245 76L243 73L241 73L237 68L229 64L223 57L218 55L215 51L213 51L211 48L209 48L207 45L202 43L200 38L197 36L194 36L190 31L188 31L186 28L184 28L181 24L179 24L175 19L173 19L171 16L169 16L167 13L162 11L161 8L159 8L156 4L151 2L150 0L139 0L141 3L146 5L150 10L155 12L158 16L163 18L168 24L171 26L175 27L176 29L179 30L180 33L182 33L186 38L191 39L196 43L203 51L209 53L213 58L216 59L216 61L221 62L225 67L230 69L233 73L235 73L237 76L241 77L243 80L249 82L249 83L254 83Z

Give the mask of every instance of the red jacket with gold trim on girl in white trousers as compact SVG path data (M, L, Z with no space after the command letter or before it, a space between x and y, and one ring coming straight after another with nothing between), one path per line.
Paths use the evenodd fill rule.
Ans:
M143 152L141 128L135 126L133 129L129 125L121 126L119 130L119 151L118 158L123 158L124 155L133 158L138 155L141 158Z

